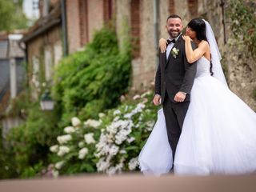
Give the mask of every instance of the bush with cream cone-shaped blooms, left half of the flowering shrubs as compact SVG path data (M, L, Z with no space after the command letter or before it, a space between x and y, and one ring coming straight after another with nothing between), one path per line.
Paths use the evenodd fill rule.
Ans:
M51 155L55 162L54 175L96 171L94 143L99 138L99 125L96 120L82 123L78 118L72 118L72 126L66 126L65 134L57 137L58 144L50 147L54 153Z

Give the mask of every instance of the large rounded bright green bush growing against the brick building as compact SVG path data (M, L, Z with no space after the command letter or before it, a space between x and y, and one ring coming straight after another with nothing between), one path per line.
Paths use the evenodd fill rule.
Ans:
M70 54L57 66L54 99L62 106L62 120L98 113L118 105L130 83L130 53L120 54L114 30L102 29L85 50ZM67 122L66 122L67 123Z

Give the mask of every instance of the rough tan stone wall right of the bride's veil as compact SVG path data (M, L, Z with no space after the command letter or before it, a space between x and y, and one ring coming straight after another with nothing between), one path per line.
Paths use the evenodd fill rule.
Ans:
M225 1L225 11L229 7L229 2ZM253 98L253 90L256 89L255 60L247 53L245 45L233 37L230 31L229 18L225 18L225 44L220 1L201 0L199 13L210 22L214 30L230 90L242 98L253 110L256 110L256 101Z

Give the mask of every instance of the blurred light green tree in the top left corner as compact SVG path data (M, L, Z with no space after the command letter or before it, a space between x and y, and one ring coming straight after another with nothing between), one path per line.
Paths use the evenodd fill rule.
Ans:
M22 12L23 0L0 0L0 31L25 29L28 19Z

